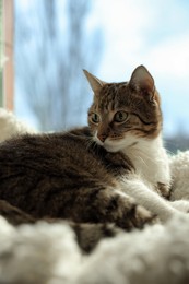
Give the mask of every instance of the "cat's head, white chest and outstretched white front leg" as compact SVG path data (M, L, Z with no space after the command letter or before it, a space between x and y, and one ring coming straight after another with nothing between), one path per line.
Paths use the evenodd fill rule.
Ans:
M129 82L114 84L84 73L95 94L88 111L94 141L108 152L123 153L134 168L120 175L122 191L161 221L178 214L177 210L189 212L188 201L165 200L170 197L172 176L162 139L161 97L147 69L139 66Z

